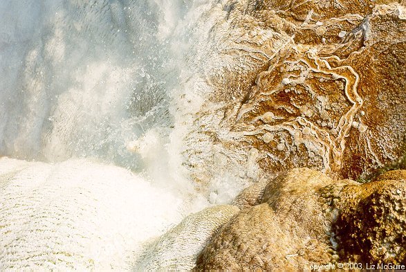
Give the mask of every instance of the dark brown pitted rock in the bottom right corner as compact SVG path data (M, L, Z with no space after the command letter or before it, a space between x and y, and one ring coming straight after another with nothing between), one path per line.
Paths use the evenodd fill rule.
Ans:
M356 187L350 185L342 192L342 197L345 196L353 197L353 201L345 202L333 226L340 257L370 264L405 264L405 180L372 181Z

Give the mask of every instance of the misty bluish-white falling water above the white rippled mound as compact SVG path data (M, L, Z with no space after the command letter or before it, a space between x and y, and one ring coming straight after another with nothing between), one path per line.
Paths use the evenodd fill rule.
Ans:
M188 27L205 6L1 1L1 156L97 158L133 172L167 172L176 156L171 107L193 43Z

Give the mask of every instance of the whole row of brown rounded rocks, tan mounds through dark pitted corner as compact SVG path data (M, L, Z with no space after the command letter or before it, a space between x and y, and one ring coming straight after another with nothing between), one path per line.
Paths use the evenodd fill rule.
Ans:
M306 264L405 264L406 171L360 184L298 168L225 224L194 271L302 271ZM386 180L396 176L397 180Z

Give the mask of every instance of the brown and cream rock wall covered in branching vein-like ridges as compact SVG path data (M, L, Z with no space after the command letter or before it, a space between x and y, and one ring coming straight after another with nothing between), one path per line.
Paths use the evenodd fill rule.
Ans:
M357 179L405 154L405 1L220 1L206 17L184 137L196 180Z

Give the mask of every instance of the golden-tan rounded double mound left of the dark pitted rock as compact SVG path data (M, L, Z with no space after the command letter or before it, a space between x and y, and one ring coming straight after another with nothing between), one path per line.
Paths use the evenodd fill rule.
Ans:
M195 271L297 271L306 262L333 261L333 196L352 182L334 184L308 168L278 176L262 203L242 210L212 237Z

